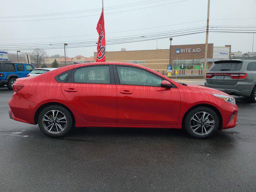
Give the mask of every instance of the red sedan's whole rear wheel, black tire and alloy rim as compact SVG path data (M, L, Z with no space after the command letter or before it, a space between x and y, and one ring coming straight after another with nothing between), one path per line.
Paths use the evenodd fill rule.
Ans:
M40 112L38 126L47 136L53 138L62 137L72 128L72 116L62 106L48 106Z

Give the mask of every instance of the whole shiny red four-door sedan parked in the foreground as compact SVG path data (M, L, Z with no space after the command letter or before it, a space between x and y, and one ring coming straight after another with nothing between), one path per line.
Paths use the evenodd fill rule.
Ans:
M38 124L50 137L72 127L184 128L194 138L236 126L228 94L179 84L144 66L99 62L18 78L10 118Z

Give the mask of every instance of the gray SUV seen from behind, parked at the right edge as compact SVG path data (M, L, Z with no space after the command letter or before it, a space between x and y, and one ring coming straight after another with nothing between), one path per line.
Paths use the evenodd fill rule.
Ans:
M256 60L216 61L206 74L205 86L256 102Z

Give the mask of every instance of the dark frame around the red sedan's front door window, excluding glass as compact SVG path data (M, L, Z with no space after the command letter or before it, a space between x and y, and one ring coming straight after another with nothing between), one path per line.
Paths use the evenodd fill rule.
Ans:
M132 85L132 86L146 86L146 87L161 87L161 86L151 86L151 85L134 85L134 84L121 84L120 83L120 78L119 78L119 74L118 74L118 70L117 70L117 66L122 66L122 67L132 67L132 68L137 68L137 69L140 69L140 70L144 70L144 71L146 71L146 72L148 72L148 73L150 73L150 74L152 74L152 75L154 75L154 76L157 76L158 78L161 78L162 80L166 80L166 81L168 81L168 82L170 82L169 80L167 80L167 79L165 79L165 78L163 78L163 77L161 77L160 75L158 75L158 74L155 74L155 73L153 73L153 72L151 72L151 71L148 71L148 70L146 70L146 69L144 69L144 68L140 68L140 67L137 67L137 66L130 66L130 65L114 65L114 75L115 75L115 81L116 81L116 84L117 85ZM171 84L172 84L172 88L177 88L172 82L170 82Z

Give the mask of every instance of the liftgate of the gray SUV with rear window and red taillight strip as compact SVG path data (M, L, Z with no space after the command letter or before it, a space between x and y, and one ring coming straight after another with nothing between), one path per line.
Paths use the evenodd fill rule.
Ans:
M206 74L206 81L210 85L234 86L239 79L246 78L240 73L243 62L240 60L222 60L214 62Z

